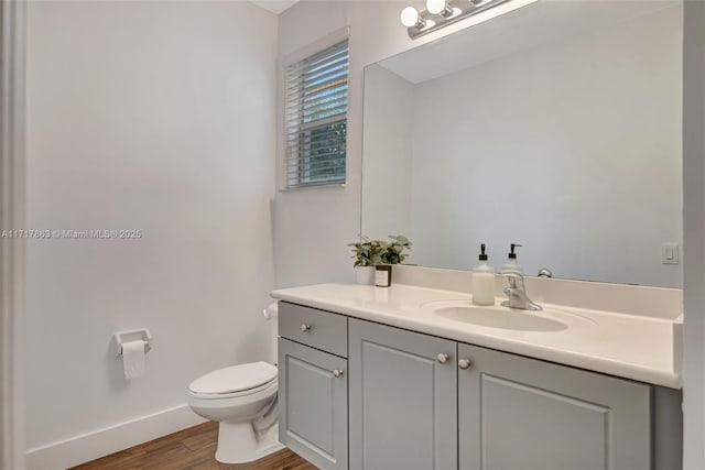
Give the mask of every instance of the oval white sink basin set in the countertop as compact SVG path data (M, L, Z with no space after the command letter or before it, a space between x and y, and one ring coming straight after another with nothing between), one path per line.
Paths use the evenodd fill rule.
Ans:
M519 331L561 331L568 327L562 321L540 316L534 311L508 310L497 307L455 305L437 307L433 311L449 320Z

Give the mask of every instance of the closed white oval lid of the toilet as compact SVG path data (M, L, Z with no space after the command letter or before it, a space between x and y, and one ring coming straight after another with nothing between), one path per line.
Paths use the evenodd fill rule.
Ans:
M218 369L196 379L188 385L194 393L221 394L254 389L273 381L276 368L267 362L232 365Z

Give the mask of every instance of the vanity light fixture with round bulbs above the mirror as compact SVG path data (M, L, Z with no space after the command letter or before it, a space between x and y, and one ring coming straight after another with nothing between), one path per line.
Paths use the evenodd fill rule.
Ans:
M401 24L409 37L415 40L440 28L505 3L509 0L426 0L426 9L417 11L406 7L401 11Z

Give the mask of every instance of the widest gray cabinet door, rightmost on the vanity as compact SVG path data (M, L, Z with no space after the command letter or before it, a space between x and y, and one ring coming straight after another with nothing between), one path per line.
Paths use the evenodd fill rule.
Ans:
M463 470L646 470L650 387L458 345Z

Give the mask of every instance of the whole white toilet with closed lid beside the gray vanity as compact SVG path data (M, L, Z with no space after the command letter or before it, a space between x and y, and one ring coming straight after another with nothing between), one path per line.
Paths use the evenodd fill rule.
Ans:
M218 422L216 460L245 463L283 449L278 440L278 370L267 362L232 365L188 385L188 405Z

